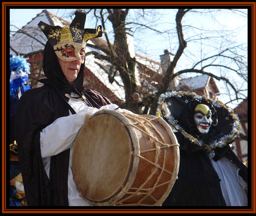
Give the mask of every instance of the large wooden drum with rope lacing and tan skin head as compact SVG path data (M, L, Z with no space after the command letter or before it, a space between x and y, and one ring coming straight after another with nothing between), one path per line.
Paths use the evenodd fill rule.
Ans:
M75 140L78 191L91 205L160 206L178 176L178 146L161 117L98 111Z

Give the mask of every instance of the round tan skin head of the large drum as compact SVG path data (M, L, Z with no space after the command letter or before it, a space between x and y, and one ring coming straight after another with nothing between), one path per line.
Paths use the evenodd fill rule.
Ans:
M106 202L126 184L133 146L124 124L114 116L93 116L75 140L72 171L79 192L92 202Z

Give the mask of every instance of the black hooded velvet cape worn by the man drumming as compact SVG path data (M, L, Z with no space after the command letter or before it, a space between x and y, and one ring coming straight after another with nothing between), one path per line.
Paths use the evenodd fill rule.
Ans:
M47 78L44 86L24 92L16 108L14 137L19 165L28 206L68 206L70 149L51 157L49 180L41 157L40 132L55 119L69 115L68 99L63 100L60 94L84 94L86 104L96 108L111 102L101 93L83 87L84 64L75 83L69 84L49 42L44 49L43 69Z

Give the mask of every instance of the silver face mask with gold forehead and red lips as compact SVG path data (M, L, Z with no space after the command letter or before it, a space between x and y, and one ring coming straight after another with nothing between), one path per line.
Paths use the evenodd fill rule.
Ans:
M208 133L212 125L212 111L205 104L198 104L194 112L194 121L200 133Z

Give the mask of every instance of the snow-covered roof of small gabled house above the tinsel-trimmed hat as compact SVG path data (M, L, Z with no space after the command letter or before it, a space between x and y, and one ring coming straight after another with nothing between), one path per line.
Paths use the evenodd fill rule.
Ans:
M201 89L204 88L209 80L210 76L204 74L201 76L190 77L180 80L180 85L186 86L189 89Z

